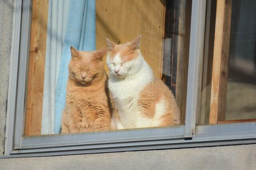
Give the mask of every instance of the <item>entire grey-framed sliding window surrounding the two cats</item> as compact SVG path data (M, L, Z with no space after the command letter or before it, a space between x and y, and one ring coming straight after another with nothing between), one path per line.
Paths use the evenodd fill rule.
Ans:
M243 100L237 106L240 112L229 102L239 88L244 92L238 95L246 98L247 91L253 98L255 83L248 77L254 75L254 64L241 64L255 58L253 36L243 28L247 22L238 19L240 14L252 17L243 12L244 6L235 0L16 0L13 39L20 41L12 42L5 154L43 156L256 143L253 101ZM253 21L249 25L250 33L255 32ZM144 59L175 96L180 125L56 134L65 104L70 46L94 51L106 47L105 37L122 44L140 34ZM248 44L246 55L238 48L240 40ZM209 99L212 92L217 98Z

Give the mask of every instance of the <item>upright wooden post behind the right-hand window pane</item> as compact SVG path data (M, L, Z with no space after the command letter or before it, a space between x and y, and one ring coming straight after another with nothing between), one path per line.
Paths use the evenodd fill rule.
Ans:
M232 0L217 0L209 124L225 119Z

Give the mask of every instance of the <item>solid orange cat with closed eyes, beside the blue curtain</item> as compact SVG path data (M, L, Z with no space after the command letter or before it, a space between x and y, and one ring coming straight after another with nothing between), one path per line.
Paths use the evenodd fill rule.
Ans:
M77 51L71 47L61 133L110 129L107 76L102 61L105 54L106 49Z

